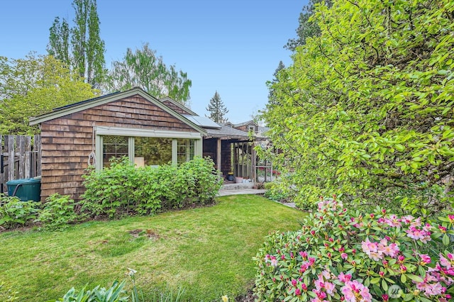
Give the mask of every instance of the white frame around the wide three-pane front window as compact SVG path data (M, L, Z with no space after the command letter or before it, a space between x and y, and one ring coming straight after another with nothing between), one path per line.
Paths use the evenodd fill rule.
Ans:
M172 130L150 130L150 129L137 129L137 128L120 128L120 127L106 127L106 126L95 126L94 131L96 133L96 171L102 169L102 145L103 136L105 135L118 135L128 136L128 157L131 163L134 162L134 138L145 137L145 138L172 138L172 164L177 164L177 139L178 138L189 138L194 140L194 156L202 156L203 152L203 140L201 133L194 132L183 132L183 131L172 131Z

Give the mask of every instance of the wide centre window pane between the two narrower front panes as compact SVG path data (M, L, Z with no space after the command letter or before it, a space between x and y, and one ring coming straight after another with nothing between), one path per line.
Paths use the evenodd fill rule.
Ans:
M134 157L155 166L172 162L172 138L134 138Z

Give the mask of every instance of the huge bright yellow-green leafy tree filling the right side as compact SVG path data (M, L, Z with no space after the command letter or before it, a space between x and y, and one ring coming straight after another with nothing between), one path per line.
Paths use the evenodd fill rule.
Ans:
M287 186L312 205L342 193L352 206L450 211L453 1L332 2L317 6L320 35L297 47L263 113Z

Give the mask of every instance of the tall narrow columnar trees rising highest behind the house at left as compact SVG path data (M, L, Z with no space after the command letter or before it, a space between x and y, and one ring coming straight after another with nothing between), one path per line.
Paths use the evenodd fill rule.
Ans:
M93 87L99 88L106 74L104 40L99 35L96 0L74 0L74 27L55 18L50 28L48 53L70 65Z

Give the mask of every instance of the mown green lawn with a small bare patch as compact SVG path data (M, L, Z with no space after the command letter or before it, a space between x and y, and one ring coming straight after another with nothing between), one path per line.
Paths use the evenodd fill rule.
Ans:
M264 237L296 230L304 215L260 196L236 195L206 208L92 221L60 232L2 233L0 284L18 291L19 301L46 301L72 286L108 287L125 279L129 267L137 270L145 298L179 287L189 301L238 296L253 284L252 257Z

